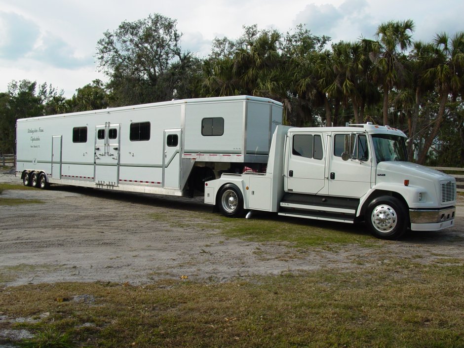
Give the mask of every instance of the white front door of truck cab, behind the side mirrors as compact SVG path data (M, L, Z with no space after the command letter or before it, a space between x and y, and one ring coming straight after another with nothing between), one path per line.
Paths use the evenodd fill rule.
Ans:
M332 142L329 194L363 196L371 188L372 161L367 134L335 133Z

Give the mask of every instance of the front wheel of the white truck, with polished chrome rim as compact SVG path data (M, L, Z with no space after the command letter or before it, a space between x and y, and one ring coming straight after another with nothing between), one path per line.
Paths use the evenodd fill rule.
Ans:
M381 196L369 203L366 211L366 224L369 231L381 239L398 239L408 225L407 210L395 197Z

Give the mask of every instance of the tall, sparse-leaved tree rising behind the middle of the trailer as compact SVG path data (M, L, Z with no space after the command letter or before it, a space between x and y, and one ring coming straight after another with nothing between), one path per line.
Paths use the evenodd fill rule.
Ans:
M176 20L160 14L122 22L97 42L98 68L110 82L116 105L165 101L189 76L190 53L180 47ZM181 69L176 69L175 67Z

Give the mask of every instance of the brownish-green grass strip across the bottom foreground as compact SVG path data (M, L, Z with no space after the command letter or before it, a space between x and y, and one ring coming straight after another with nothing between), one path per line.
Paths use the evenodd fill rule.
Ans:
M34 342L66 338L43 347L457 348L464 346L463 275L462 264L397 259L219 284L41 284L0 291L0 308L10 318L49 312L8 324L34 332ZM95 302L69 300L82 294Z

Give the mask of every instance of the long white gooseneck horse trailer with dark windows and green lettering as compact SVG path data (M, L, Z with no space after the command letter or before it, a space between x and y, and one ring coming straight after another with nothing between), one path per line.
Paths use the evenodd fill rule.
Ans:
M223 171L267 163L282 104L234 96L18 119L16 175L66 184L191 195Z

